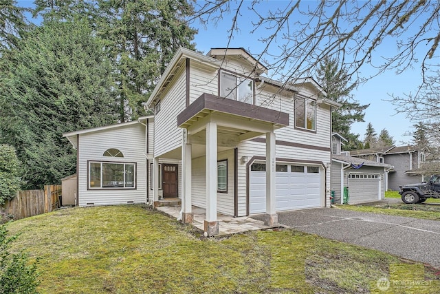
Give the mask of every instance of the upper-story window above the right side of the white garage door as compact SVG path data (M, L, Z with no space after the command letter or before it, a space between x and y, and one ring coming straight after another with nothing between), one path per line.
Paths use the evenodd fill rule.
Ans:
M296 97L295 127L316 131L316 101L309 98Z

